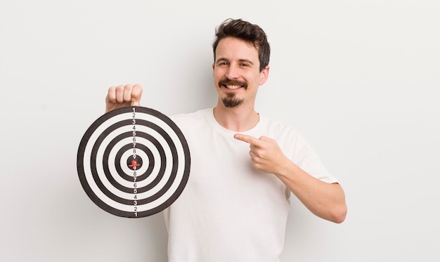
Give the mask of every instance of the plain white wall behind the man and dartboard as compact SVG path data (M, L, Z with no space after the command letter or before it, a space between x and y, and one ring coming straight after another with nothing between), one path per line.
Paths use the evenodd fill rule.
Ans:
M79 141L109 86L165 114L212 107L214 28L272 47L257 110L305 136L347 194L347 220L295 199L282 261L440 261L440 2L0 2L0 261L166 261L163 214L87 197ZM240 261L241 262L241 261Z

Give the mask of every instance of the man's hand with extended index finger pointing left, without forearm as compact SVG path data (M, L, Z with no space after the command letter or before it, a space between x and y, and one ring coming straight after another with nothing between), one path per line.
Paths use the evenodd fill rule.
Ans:
M283 166L290 162L281 151L276 140L266 136L254 138L240 133L236 133L234 138L250 144L249 155L252 165L264 173L277 175L283 171Z

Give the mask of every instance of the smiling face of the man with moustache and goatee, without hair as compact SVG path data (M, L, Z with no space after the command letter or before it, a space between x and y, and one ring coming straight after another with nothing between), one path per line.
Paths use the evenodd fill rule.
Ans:
M214 84L225 107L253 108L258 87L268 77L268 67L259 72L258 50L252 43L235 37L222 39L212 65Z

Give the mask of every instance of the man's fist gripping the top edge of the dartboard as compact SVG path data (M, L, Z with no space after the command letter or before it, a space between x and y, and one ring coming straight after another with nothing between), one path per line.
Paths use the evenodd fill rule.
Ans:
M142 97L142 86L127 84L125 86L111 86L105 97L105 112L115 110L119 107L140 105Z

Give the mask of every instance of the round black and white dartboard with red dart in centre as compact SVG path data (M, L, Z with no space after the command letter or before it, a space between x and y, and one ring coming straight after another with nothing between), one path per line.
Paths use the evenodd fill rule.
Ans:
M169 117L147 107L120 107L84 133L77 170L82 188L98 207L141 218L166 209L181 195L190 151Z

